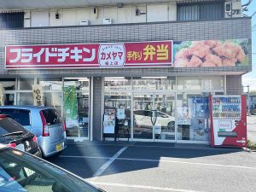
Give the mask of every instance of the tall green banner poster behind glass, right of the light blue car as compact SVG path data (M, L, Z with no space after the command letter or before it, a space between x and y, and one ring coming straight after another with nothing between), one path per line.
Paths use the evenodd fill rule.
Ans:
M75 86L63 87L63 107L68 128L78 128L78 104Z

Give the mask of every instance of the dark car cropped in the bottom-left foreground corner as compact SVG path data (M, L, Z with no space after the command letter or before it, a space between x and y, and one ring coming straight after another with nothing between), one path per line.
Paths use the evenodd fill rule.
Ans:
M0 148L0 191L101 191L45 160L13 148Z

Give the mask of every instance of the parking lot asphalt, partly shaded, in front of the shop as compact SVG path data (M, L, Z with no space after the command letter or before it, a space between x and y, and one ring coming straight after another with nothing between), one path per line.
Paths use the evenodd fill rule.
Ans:
M256 191L256 153L175 143L68 143L50 160L107 191Z

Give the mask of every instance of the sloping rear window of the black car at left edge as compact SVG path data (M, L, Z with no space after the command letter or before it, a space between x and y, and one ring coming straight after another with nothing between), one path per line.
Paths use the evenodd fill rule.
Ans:
M0 119L0 136L15 131L23 131L24 133L27 132L26 129L24 129L23 126L18 124L14 119Z

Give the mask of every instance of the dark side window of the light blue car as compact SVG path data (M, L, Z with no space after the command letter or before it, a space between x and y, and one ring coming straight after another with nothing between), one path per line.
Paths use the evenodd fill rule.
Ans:
M20 125L31 125L30 110L16 108L1 108L1 114L8 114L12 119L15 119Z

